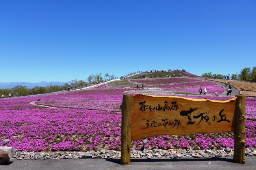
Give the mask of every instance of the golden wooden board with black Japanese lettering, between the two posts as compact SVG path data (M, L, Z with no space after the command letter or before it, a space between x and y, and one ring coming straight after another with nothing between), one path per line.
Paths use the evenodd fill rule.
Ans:
M132 99L131 139L168 134L234 132L235 107L236 98L212 101L138 94Z

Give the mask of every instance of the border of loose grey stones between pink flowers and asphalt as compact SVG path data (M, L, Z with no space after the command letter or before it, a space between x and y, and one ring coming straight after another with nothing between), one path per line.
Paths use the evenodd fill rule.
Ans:
M206 150L193 150L193 149L153 149L153 150L135 150L131 151L131 158L171 158L177 157L226 157L233 156L233 148L224 148L222 150L206 149ZM256 156L256 148L246 148L245 156ZM91 150L90 152L26 152L15 150L15 156L12 159L27 160L27 159L108 159L108 158L121 158L121 151L105 150L100 151Z

